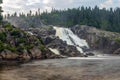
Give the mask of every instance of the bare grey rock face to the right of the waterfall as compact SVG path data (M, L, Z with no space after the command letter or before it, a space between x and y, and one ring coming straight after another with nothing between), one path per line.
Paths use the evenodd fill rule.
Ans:
M80 38L87 40L92 50L100 50L104 53L112 54L120 48L120 43L115 40L120 37L119 33L98 30L84 25L76 25L71 30Z

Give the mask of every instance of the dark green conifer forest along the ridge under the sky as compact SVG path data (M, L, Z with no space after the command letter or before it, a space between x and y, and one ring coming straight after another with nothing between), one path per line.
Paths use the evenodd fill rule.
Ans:
M100 9L95 6L79 7L73 9L56 10L52 9L51 12L47 10L40 13L40 9L33 15L30 11L25 15L20 13L19 17L29 18L34 17L40 19L46 25L58 25L64 27L72 27L74 25L88 25L94 26L99 29L120 32L120 8ZM17 16L17 13L6 15L6 18Z

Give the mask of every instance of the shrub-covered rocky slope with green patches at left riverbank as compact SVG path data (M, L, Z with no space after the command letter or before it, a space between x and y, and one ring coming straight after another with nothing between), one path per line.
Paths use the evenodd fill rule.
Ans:
M43 44L41 38L25 32L9 23L0 25L0 61L19 60L29 61L31 59L55 58Z

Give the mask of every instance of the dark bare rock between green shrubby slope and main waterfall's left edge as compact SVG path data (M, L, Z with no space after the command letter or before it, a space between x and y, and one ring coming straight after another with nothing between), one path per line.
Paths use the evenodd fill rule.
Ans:
M52 27L29 29L30 32L41 38L48 48L58 49L63 56L83 56L76 47L67 45L66 42L55 36L56 31Z

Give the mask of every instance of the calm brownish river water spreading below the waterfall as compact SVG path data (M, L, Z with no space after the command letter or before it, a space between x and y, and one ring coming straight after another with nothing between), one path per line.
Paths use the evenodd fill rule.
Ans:
M38 60L2 68L0 80L120 80L120 57Z

